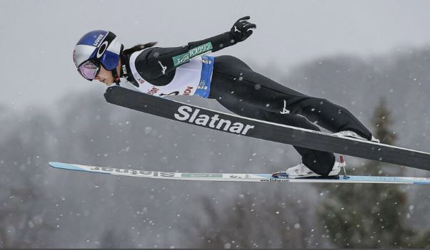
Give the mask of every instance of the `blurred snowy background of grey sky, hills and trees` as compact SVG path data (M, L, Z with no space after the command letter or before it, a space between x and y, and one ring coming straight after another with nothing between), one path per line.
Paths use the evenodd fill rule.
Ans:
M179 172L275 172L290 145L106 103L74 45L181 46L251 16L214 53L351 110L384 143L430 151L429 1L0 0L0 248L430 247L429 187L174 182L55 170L49 161ZM179 100L188 100L176 97ZM224 110L209 100L191 103ZM346 157L351 175L429 177Z

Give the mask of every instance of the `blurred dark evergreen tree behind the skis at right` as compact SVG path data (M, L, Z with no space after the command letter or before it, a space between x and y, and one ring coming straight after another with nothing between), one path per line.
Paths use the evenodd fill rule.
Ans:
M390 130L391 119L386 100L381 99L374 111L374 136L381 143L393 145L396 134ZM354 175L386 175L386 163L369 161L357 167ZM392 170L396 166L389 166ZM349 166L351 169L351 166ZM397 167L399 169L399 167ZM350 171L351 172L351 171ZM390 174L401 174L390 171ZM339 248L425 247L429 232L424 236L406 224L408 199L396 184L327 185L326 199L317 210L317 217L326 234Z

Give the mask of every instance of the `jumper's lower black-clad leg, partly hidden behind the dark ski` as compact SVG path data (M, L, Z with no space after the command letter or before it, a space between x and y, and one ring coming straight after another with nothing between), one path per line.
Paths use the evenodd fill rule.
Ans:
M256 108L246 103L238 102L237 100L226 100L224 98L217 98L225 108L233 113L242 115L248 118L259 120L266 120L271 123L281 123L284 125L291 125L295 127L304 127L310 130L319 130L319 127L309 122L306 118L300 115L274 113L261 108ZM318 175L329 175L329 172L334 166L335 157L333 153L324 152L319 150L310 150L305 147L294 147L301 155L301 160Z

